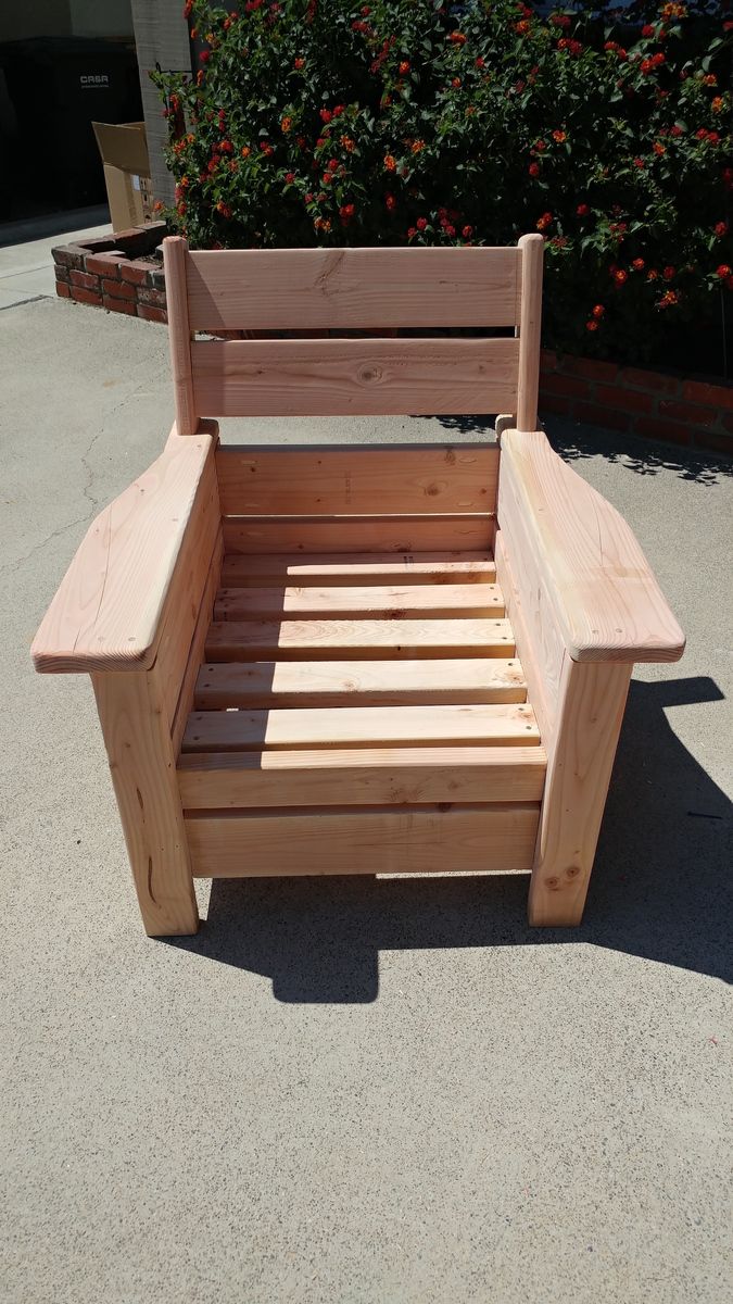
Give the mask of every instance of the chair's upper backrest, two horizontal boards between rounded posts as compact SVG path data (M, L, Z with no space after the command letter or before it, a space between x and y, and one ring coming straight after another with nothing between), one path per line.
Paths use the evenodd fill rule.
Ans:
M501 412L537 425L543 248L223 249L163 241L176 425L202 416ZM329 338L395 327L479 338ZM323 338L196 339L194 333Z

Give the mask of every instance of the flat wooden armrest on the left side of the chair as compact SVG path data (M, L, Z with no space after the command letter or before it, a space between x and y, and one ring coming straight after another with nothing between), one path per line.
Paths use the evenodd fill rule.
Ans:
M31 645L42 674L147 670L189 522L217 510L217 424L171 434L90 526Z

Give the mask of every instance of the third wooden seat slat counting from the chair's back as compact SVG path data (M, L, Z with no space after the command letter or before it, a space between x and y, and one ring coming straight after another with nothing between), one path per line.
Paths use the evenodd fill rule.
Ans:
M412 660L511 657L506 619L463 621L214 621L207 661Z

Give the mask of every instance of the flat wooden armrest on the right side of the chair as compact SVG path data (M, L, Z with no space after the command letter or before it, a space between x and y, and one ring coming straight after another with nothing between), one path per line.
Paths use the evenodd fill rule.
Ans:
M541 432L502 433L500 527L502 516L523 522L574 661L680 660L685 635L631 529Z

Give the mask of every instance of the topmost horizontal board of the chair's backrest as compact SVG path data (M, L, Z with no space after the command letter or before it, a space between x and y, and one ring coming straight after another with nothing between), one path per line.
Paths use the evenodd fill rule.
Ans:
M189 253L192 330L515 326L510 249L224 249Z

